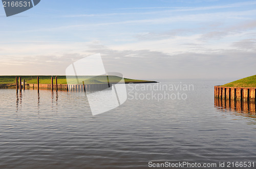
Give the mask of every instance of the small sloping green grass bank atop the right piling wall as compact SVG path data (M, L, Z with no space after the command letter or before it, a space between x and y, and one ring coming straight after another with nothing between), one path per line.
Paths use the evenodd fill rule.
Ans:
M256 88L256 75L227 83L225 85L222 85L222 87Z

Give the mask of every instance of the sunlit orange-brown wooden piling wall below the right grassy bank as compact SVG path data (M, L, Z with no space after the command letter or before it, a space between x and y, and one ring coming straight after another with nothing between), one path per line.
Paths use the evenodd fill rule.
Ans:
M256 101L256 88L233 88L233 87L214 87L214 94L216 98Z

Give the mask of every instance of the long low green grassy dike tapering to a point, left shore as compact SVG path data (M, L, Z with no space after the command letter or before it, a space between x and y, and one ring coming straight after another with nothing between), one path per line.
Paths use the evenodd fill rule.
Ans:
M25 79L26 83L37 83L37 76L17 76ZM52 76L39 76L39 83L40 84L51 84L51 77ZM57 76L58 77L58 84L67 84L66 76ZM120 81L121 77L118 76L108 76L110 83L116 83ZM53 76L54 80L53 83L55 84L55 76ZM86 84L102 84L107 83L108 80L106 76L78 76L78 79L86 79ZM16 76L0 76L0 85L7 85L7 84L14 84L16 80ZM76 77L70 77L70 82L77 83ZM124 78L125 83L155 83L157 81L148 81L148 80L136 80L130 78Z

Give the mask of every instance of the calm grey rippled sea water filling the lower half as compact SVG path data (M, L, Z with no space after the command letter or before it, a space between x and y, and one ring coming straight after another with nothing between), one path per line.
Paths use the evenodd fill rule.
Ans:
M0 168L147 168L148 162L256 162L255 112L215 105L214 86L186 99L142 99L132 90L114 110L92 116L84 93L0 90ZM154 84L148 84L154 85ZM141 85L142 86L142 85ZM141 86L136 86L140 88ZM164 95L177 94L167 91ZM141 98L135 99L135 94ZM134 98L132 99L132 96Z

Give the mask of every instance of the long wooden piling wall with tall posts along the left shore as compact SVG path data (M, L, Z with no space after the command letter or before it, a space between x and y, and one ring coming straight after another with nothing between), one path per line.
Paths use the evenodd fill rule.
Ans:
M56 83L53 84L53 77L51 77L51 84L39 84L39 76L37 76L37 84L35 83L28 83L25 85L25 79L23 79L23 85L22 85L22 78L16 77L16 92L18 90L22 92L22 89L25 90L26 86L27 89L37 89L39 92L39 89L46 89L46 90L52 90L52 91L94 91L94 90L104 90L112 87L111 83L102 83L102 84L91 84L91 85L67 85L67 84L58 84L58 78L55 77Z

